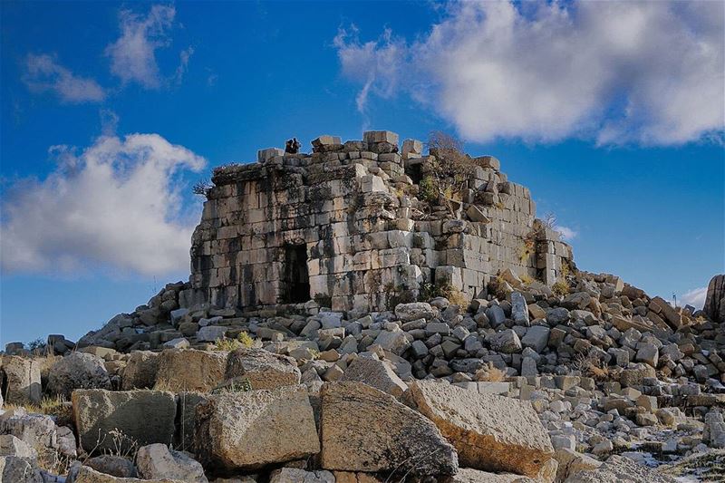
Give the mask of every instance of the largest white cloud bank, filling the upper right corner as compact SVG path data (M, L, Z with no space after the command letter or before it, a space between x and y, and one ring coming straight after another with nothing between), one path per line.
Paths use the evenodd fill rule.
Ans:
M681 144L722 139L722 2L450 3L408 42L386 31L334 45L343 75L406 92L467 140Z

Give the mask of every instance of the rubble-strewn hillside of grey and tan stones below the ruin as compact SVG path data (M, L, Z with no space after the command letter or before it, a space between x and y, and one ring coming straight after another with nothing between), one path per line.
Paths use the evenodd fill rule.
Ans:
M504 272L487 299L354 316L179 308L185 288L8 345L2 481L722 480L725 331L616 276Z

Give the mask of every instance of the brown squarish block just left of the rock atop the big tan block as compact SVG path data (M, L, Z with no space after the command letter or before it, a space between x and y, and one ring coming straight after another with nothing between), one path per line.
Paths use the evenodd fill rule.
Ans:
M156 389L208 392L224 382L227 355L223 351L170 349L160 355Z

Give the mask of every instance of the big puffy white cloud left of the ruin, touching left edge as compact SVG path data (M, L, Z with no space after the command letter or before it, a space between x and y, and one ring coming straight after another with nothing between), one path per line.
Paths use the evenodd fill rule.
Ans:
M52 174L14 183L3 197L4 270L188 269L197 220L184 216L179 175L204 168L204 158L158 134L102 136L80 154L51 152L60 161Z

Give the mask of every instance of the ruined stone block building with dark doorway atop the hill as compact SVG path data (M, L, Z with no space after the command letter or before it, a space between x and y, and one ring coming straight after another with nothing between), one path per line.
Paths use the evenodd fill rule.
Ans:
M496 158L472 159L457 199L438 202L420 199L435 162L420 141L399 150L383 130L313 147L215 169L192 238L189 303L380 311L436 286L481 296L506 269L553 284L572 260Z

